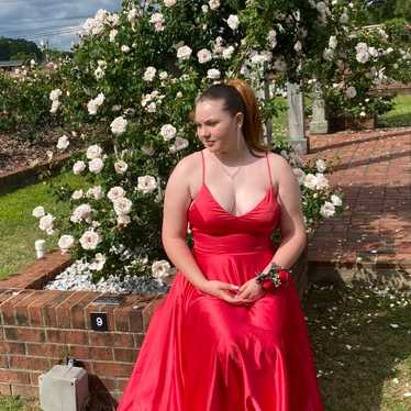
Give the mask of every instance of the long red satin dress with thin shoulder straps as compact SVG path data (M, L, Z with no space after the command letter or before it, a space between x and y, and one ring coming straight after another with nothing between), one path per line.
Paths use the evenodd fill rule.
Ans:
M275 248L280 208L273 181L233 215L203 182L188 210L192 254L208 279L241 286ZM267 157L268 175L269 163ZM322 411L295 281L249 306L203 293L177 271L149 323L118 411Z

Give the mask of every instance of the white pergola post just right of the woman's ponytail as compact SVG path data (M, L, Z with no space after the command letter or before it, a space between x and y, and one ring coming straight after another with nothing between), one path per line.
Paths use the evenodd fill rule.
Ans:
M291 146L299 154L307 154L304 135L304 107L300 86L287 82L288 136Z

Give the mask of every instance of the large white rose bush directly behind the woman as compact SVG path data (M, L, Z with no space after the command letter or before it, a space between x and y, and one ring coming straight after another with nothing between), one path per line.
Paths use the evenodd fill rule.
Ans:
M277 102L262 93L265 75L300 79L301 55L315 49L318 19L316 3L303 0L124 1L119 13L100 10L62 68L71 80L59 87L57 113L76 130L96 124L104 133L85 154L73 155L69 169L84 177L81 192L55 189L71 215L45 219L41 204L33 215L45 219L45 230L58 231L63 252L91 265L95 281L166 277L171 268L160 238L164 190L178 160L201 148L189 120L196 97L214 81L243 77L257 90L264 118L271 116ZM273 149L296 169L308 229L342 210L324 176L331 167L302 165L284 142L274 142ZM307 186L309 174L314 178Z

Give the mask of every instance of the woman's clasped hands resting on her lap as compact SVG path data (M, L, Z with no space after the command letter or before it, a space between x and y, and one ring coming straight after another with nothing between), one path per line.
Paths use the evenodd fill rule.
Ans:
M241 287L229 282L208 280L201 287L201 291L218 297L234 306L251 304L259 300L266 293L256 281L255 277L245 281Z

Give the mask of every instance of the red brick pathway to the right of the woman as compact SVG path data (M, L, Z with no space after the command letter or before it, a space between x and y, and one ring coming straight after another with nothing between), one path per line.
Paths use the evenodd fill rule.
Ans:
M411 268L411 129L310 136L304 158L340 157L330 182L349 207L309 240L310 264Z

